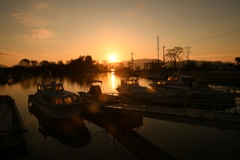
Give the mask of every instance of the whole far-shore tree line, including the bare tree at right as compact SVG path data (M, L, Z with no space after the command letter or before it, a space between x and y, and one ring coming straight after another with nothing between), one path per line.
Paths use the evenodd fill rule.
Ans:
M165 70L216 70L216 69L232 69L233 64L225 64L222 62L212 63L212 62L203 62L201 65L197 65L197 62L194 60L189 60L189 55L191 53L191 47L174 47L168 49L165 54L164 60L168 60L172 63L171 66L164 67ZM164 63L164 61L162 62ZM43 60L38 62L36 60L29 60L24 58L20 62L13 66L12 69L15 73L30 73L32 75L39 75L42 73L51 73L62 75L62 74L78 74L86 72L106 72L110 71L112 68L116 72L130 72L132 64L120 63L108 63L106 60L102 63L94 60L90 55L79 56L76 59L68 60L65 64L62 60L58 62L49 62ZM134 70L141 70L141 67L134 66Z

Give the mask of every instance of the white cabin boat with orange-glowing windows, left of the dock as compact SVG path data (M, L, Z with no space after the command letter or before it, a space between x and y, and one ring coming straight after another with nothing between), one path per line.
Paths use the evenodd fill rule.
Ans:
M62 83L50 82L37 84L37 92L28 96L28 103L52 118L73 118L82 113L88 100L64 90Z

